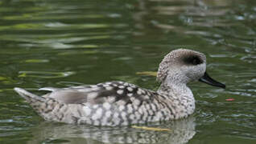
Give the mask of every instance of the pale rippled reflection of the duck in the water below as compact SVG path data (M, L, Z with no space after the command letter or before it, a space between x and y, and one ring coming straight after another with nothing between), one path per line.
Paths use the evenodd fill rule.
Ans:
M195 134L195 118L151 123L145 126L167 128L170 131L134 129L130 126L98 127L42 122L32 130L28 143L186 143Z

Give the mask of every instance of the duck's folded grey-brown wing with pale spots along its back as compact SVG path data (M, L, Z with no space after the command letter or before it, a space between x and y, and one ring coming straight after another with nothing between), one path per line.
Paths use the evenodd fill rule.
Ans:
M104 82L97 85L74 86L64 89L43 88L52 93L45 94L44 98L53 98L63 103L91 103L99 104L104 102L126 105L135 102L141 105L142 102L149 102L153 99L155 92L142 89L127 82Z

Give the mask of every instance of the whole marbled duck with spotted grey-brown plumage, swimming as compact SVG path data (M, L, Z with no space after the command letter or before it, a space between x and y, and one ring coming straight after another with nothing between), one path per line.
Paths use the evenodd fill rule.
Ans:
M147 90L127 82L103 82L68 88L46 87L42 97L14 88L35 111L48 121L95 126L118 126L186 118L195 110L195 99L187 86L197 81L225 88L206 73L204 54L186 49L172 50L159 64L159 90Z

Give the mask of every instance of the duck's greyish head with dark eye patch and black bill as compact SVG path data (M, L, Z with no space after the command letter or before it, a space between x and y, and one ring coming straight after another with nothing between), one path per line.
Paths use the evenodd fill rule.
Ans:
M159 64L157 80L167 85L197 81L225 88L206 73L206 57L195 50L172 50Z

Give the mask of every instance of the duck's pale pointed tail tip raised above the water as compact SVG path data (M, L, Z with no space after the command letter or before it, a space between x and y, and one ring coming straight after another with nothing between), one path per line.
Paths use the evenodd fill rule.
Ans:
M27 102L45 102L46 99L43 97L39 97L38 95L32 94L30 92L28 92L27 90L24 90L22 88L19 87L15 87L14 90L23 98L25 98L27 100Z

